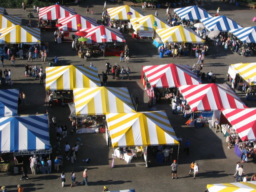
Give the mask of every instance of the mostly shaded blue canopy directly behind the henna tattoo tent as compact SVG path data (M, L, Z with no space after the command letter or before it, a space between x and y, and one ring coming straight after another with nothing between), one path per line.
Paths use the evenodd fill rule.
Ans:
M15 116L18 110L18 89L0 90L0 116Z

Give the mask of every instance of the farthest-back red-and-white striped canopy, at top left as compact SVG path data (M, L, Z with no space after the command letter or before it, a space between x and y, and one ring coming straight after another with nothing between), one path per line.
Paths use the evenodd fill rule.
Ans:
M52 5L39 9L39 19L43 20L55 20L62 17L69 17L75 14L76 12L73 8L61 5Z

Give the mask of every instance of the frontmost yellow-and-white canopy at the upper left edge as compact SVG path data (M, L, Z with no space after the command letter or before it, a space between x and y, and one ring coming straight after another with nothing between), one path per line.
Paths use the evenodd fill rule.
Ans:
M39 43L41 32L38 28L15 25L0 29L0 44Z

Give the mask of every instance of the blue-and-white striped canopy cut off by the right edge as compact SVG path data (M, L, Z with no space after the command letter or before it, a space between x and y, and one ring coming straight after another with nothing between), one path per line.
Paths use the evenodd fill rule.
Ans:
M230 30L238 39L245 43L256 43L256 26Z

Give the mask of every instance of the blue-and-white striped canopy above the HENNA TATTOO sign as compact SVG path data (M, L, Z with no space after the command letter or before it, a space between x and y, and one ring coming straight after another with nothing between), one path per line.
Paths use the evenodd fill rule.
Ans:
M0 117L0 153L49 149L46 114Z

